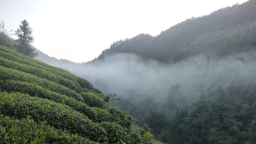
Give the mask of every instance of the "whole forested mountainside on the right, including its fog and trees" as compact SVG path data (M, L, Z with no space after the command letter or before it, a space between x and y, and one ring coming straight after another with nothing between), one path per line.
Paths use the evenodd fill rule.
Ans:
M247 103L242 94L232 99L228 87L239 85L238 89L248 90L244 95L255 100L255 10L256 0L249 0L187 19L158 36L139 34L114 42L97 59L82 64L77 74L103 93L121 96L124 102L118 106L136 118L138 125L146 123L158 135L155 138L167 144L253 144L253 136L246 141L233 137L232 130L239 128L236 135L252 134L255 118L248 122L242 115L252 112L255 104ZM207 102L201 97L207 97ZM209 112L210 106L216 106L218 114ZM222 106L227 109L220 110ZM201 129L204 113L204 120L210 122L208 133ZM251 132L246 124L232 125L228 120L250 125Z

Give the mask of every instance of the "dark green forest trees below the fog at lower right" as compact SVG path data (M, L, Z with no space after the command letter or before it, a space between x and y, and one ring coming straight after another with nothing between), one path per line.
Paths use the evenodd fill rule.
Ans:
M187 144L254 144L256 88L231 83L212 84L208 98L194 104L190 115L173 119L174 133ZM250 99L250 100L247 100Z

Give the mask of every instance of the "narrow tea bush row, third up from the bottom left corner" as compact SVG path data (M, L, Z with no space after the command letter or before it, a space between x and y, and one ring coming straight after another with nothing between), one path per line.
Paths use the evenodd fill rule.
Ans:
M104 101L98 98L98 96L95 96L90 93L83 93L82 96L86 97L85 101L87 103L90 103L93 108L90 108L85 103L77 101L72 97L68 97L56 92L49 91L37 84L16 81L11 79L6 81L1 80L0 89L5 90L7 92L26 93L30 96L37 96L40 98L53 100L55 102L74 108L76 111L85 114L90 120L93 120L94 122L117 122L127 129L129 129L129 127L132 125L132 118L130 115L125 115L124 112L120 111L117 108L107 108L107 110L111 112L110 114L110 112L108 112L106 109L101 109L105 108L102 107L105 105Z

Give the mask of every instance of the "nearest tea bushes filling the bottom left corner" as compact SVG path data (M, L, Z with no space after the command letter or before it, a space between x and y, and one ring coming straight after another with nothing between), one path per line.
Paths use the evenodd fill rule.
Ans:
M96 144L78 134L70 134L27 116L17 120L0 115L0 144Z

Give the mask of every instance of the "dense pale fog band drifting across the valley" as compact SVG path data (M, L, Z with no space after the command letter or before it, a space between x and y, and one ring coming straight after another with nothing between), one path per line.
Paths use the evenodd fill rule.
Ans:
M73 71L103 93L167 96L171 85L179 84L184 94L198 96L215 81L223 86L231 82L255 83L255 62L255 56L244 53L208 61L206 56L197 55L166 65L143 60L135 54L119 53L85 63Z

